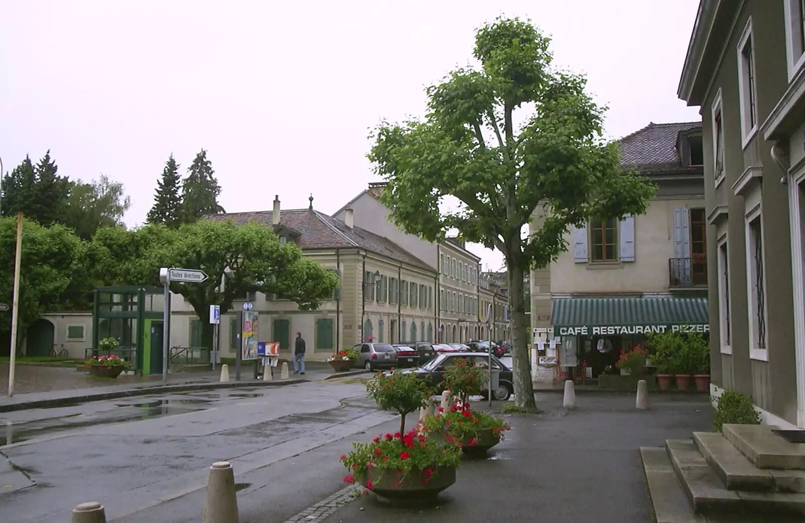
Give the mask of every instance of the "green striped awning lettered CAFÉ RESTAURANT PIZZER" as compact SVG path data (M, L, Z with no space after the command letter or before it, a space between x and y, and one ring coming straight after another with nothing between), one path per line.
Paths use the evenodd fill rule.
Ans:
M710 330L706 298L554 299L551 324L559 336Z

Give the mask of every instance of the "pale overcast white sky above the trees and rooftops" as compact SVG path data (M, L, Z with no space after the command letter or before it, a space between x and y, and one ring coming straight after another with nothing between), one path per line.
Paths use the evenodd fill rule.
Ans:
M530 19L554 64L583 73L620 138L700 120L676 97L698 0L2 0L0 159L46 150L61 175L122 182L145 221L170 154L200 149L227 212L336 212L382 181L382 120L421 117L424 89L473 64L477 27ZM500 253L470 245L484 269Z

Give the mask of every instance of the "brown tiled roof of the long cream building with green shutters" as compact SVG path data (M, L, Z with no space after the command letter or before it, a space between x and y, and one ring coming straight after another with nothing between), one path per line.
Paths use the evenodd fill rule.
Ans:
M271 211L230 212L229 214L205 216L205 219L232 220L236 224L257 222L271 226L271 214ZM349 229L343 221L322 212L311 209L289 209L280 212L280 216L281 224L299 233L299 239L296 243L301 249L360 247L373 253L404 261L413 266L431 270L425 262L388 238L369 233L369 231L359 227Z

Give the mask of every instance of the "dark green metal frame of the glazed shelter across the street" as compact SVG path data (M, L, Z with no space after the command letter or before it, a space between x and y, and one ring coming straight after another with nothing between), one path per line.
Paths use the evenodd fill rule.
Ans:
M131 299L122 299L121 302L102 302L101 296L104 294L122 294L124 297L136 296L136 302ZM146 332L146 319L163 319L162 311L146 311L146 297L151 294L163 294L163 289L152 286L109 286L97 287L93 295L93 352L97 350L100 339L99 325L101 319L134 319L136 323L134 335L134 350L137 354L136 368L134 371L142 374L143 368L143 349L145 346L145 336L151 336L151 331ZM128 305L127 311L102 311L101 308L109 303L122 303ZM165 304L163 304L163 307ZM165 333L167 336L167 332ZM146 373L148 370L146 370Z

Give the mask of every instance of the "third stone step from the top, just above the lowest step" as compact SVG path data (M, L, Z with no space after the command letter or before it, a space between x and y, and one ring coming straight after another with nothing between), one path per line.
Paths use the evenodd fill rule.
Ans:
M805 514L805 494L728 490L692 440L668 439L665 444L694 513L708 518L709 514Z

